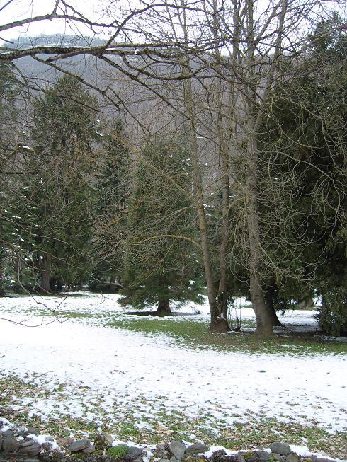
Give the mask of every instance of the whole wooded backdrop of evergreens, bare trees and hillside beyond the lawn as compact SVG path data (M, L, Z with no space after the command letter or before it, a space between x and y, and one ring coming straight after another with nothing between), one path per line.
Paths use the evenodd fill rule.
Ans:
M318 21L297 54L278 44L283 10L268 49L224 13L212 45L175 59L1 62L1 294L120 291L158 315L207 294L217 331L246 296L263 335L318 297L323 330L347 333L346 23Z

